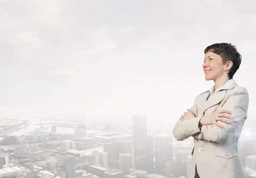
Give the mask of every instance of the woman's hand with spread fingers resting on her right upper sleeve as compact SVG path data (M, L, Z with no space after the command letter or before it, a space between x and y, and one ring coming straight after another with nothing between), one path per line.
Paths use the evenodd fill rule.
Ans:
M227 119L232 119L230 116L228 116L225 113L232 114L228 110L217 110L216 112L214 112L214 113L212 113L208 116L203 116L201 118L201 120L199 121L199 126L215 124L218 127L223 128L223 126L221 124L219 124L217 121L221 121L221 122L224 122L226 124L230 124L230 121L228 121Z

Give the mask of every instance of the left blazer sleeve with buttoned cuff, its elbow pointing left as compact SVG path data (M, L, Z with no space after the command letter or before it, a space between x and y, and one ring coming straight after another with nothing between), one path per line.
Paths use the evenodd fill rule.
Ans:
M195 105L195 102L190 110L192 111L192 113L194 113L195 116L197 116L196 115L197 106ZM181 121L179 119L172 130L172 133L175 139L178 141L182 141L189 138L190 136L193 136L195 133L200 132L198 124L196 123L199 123L201 118L202 116L197 116L195 118L184 120L184 121Z

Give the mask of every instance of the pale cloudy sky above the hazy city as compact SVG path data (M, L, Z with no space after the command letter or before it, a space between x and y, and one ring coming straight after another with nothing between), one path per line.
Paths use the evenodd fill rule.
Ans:
M205 81L204 49L236 45L256 107L255 0L0 0L0 116L177 120Z

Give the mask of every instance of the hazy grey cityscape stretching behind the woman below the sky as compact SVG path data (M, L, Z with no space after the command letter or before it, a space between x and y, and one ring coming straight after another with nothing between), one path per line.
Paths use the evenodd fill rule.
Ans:
M176 141L171 129L148 130L146 116L134 115L126 123L42 118L33 122L1 118L0 178L189 176L193 138ZM246 124L239 139L246 178L256 177L256 131L248 132L255 126Z

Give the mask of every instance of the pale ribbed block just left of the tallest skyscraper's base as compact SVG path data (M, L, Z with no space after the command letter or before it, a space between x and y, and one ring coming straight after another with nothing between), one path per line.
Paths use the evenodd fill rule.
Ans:
M125 172L125 175L129 174L129 169L132 167L132 154L120 153L119 154L119 170Z

